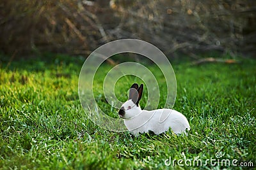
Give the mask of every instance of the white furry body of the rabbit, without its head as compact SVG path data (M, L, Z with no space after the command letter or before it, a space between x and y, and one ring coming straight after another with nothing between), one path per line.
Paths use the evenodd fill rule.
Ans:
M179 111L170 109L141 110L139 115L124 119L124 124L134 136L148 131L161 134L170 128L175 134L181 134L190 129L187 118Z

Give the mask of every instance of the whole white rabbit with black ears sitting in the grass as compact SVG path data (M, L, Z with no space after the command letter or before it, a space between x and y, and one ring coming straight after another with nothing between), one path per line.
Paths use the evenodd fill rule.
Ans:
M134 136L152 131L161 134L170 128L175 134L186 134L190 130L188 120L179 111L171 109L141 110L139 102L143 92L143 84L138 87L134 83L129 90L129 100L122 104L118 115L124 119L128 131Z

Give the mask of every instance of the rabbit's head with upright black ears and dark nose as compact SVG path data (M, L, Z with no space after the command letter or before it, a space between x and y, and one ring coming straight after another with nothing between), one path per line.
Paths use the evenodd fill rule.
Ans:
M136 117L136 115L141 113L141 108L139 106L139 102L142 96L143 92L143 84L138 86L137 83L134 83L129 91L129 99L124 104L122 104L122 107L118 111L118 115L121 118L127 119Z

